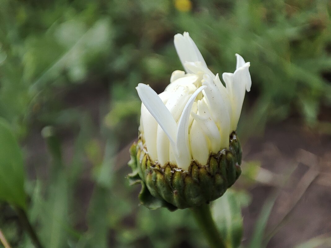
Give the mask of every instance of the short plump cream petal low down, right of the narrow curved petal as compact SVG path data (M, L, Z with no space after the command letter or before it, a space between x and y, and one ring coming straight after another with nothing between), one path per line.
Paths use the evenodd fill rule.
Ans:
M189 137L192 158L197 160L202 165L207 164L209 157L208 141L196 120L192 123ZM183 169L187 170L188 167Z

